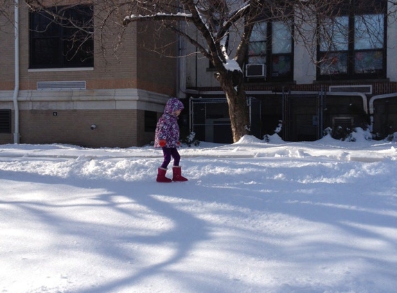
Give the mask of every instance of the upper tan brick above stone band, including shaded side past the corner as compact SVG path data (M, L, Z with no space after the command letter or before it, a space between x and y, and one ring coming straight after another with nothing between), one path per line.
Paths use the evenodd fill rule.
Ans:
M20 90L35 90L37 81L86 81L89 90L139 88L175 95L176 59L150 51L170 43L172 45L168 46L164 54L175 56L175 34L162 34L158 39L157 28L149 26L150 29L145 31L136 28L139 24L131 23L123 33L118 50L115 51L119 28L107 27L94 35L94 67L91 70L29 69L27 9L20 10L19 25ZM138 31L140 33L137 33ZM165 41L166 37L171 40ZM13 44L12 24L8 23L0 30L0 90L13 90L15 86Z

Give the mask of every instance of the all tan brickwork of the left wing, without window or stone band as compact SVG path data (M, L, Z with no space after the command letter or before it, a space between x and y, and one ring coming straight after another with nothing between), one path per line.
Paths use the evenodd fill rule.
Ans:
M159 44L152 42L155 40L153 34L157 31L156 28L138 34L138 24L129 24L124 32L121 47L116 52L113 47L117 39L117 35L112 31L114 28L108 28L102 36L97 33L94 35L94 67L90 69L29 69L27 9L20 10L19 23L20 143L132 147L142 146L154 140L154 133L144 131L143 109L163 109L161 97L164 97L165 103L167 95L175 94L177 63L175 58L166 58L150 51ZM102 40L100 37L103 37ZM164 37L166 36L162 35L158 40L164 42ZM170 34L167 37L173 38L173 46L167 49L167 55L173 56L177 52L175 35ZM8 24L0 30L0 108L13 109L13 44L13 28L12 24ZM101 50L103 46L106 49L105 53ZM80 97L72 97L68 92L65 94L54 91L51 92L55 95L53 99L48 99L48 93L44 98L40 98L40 91L36 91L37 81L86 81L87 91L84 95L87 97L82 101ZM116 90L112 92L112 89L131 92L139 89L148 93L144 97L137 94L136 100L124 101L115 100ZM97 94L98 102L95 100L98 90L107 90L110 94ZM93 97L89 97L90 94ZM152 96L157 98L153 100ZM57 115L54 116L53 112L57 112ZM14 118L15 115L12 113L12 124L15 123ZM91 124L96 124L98 128L91 131ZM0 144L12 143L13 133L14 130L11 134L0 134Z

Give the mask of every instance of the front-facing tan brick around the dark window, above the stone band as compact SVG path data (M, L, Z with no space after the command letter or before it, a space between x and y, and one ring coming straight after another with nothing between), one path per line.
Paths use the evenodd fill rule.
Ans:
M136 34L133 27L127 28L123 49L117 52L113 47L114 35L107 40L106 31L101 36L98 33L94 44L94 68L91 70L29 69L28 10L20 11L19 20L20 90L35 90L37 81L87 81L87 89L136 87L136 46L132 45ZM100 37L107 42L102 42ZM102 48L106 49L106 53Z

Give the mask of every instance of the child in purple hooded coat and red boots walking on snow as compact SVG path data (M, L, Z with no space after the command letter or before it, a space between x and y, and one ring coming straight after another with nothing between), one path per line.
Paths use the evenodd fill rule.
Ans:
M157 122L155 133L155 147L161 147L164 154L164 162L157 170L157 182L171 181L188 181L181 175L181 167L179 167L179 156L177 147L179 146L179 126L178 116L184 109L184 104L177 98L170 98L166 103L164 114ZM174 159L173 163L173 179L166 177L168 164Z

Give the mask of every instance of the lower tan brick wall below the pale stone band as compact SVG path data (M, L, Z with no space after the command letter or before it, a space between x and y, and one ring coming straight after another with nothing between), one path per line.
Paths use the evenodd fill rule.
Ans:
M144 132L142 110L28 110L20 117L22 144L141 147L154 137ZM92 124L96 129L91 130Z

